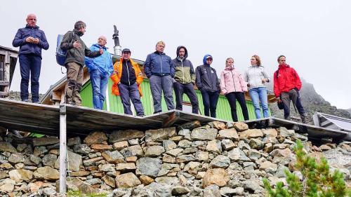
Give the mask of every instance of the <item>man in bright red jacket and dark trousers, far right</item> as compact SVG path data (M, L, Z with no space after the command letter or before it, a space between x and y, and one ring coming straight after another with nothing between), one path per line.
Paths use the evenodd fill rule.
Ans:
M277 97L278 102L284 104L284 118L290 120L290 101L298 109L301 121L307 123L307 116L305 109L300 100L301 81L298 73L286 64L286 57L280 55L278 57L279 67L274 72L274 95Z

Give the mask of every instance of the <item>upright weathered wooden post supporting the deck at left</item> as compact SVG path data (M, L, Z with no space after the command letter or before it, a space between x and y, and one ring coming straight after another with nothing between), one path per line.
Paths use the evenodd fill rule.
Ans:
M67 135L66 135L66 105L60 105L60 193L66 193L66 161L67 161Z

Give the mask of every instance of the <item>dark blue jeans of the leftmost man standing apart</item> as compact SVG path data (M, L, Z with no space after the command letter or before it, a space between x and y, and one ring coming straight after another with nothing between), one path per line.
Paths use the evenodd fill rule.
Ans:
M19 57L19 61L20 73L22 78L20 85L21 100L28 100L28 86L30 75L30 90L32 93L32 102L39 102L39 76L41 69L41 57L32 54L21 54Z

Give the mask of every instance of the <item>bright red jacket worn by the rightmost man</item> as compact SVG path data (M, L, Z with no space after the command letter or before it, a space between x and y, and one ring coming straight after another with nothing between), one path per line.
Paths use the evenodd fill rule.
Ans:
M275 97L279 97L280 93L287 93L293 88L300 90L302 86L298 73L288 64L279 65L279 69L274 72L273 79Z

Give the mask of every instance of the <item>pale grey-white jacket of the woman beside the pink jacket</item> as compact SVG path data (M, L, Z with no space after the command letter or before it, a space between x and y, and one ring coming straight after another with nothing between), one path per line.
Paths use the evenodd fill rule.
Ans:
M258 67L255 65L246 69L244 80L248 83L249 90L252 88L265 87L265 83L262 83L262 79L268 79L270 81L270 77L265 72L263 66Z

